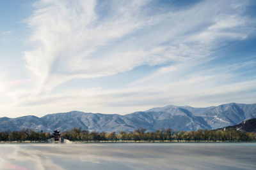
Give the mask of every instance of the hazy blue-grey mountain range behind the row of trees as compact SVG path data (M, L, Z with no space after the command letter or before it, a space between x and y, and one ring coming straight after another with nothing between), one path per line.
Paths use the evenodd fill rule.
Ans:
M55 129L68 131L74 127L98 132L134 131L138 128L145 128L147 131L156 131L159 128L196 131L236 125L255 117L256 104L229 103L207 108L169 105L127 115L70 111L44 117L31 115L18 118L2 117L0 131L32 129L52 132Z

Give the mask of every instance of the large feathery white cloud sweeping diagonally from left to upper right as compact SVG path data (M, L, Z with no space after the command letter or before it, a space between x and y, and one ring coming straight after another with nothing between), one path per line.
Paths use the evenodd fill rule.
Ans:
M106 18L95 12L95 1L37 3L28 20L35 50L25 52L24 59L40 87L51 89L70 78L108 76L141 64L207 57L213 43L246 38L250 33L240 30L248 29L244 25L250 20L237 15L240 8L226 2L206 1L161 15L150 15L146 3L111 2Z

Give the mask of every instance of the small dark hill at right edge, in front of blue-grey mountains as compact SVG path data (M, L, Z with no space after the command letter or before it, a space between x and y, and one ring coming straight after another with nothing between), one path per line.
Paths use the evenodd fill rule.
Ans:
M237 131L256 132L256 118L245 120L244 122L241 122L240 124L223 127L221 129L222 130L236 129Z

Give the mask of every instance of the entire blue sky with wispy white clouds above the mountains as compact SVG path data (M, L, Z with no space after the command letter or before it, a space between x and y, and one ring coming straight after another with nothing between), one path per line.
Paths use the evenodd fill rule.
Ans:
M0 117L256 103L255 1L4 0Z

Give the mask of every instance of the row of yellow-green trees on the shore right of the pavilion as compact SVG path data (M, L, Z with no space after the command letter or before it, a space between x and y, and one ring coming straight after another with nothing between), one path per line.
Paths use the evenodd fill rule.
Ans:
M70 141L122 141L122 142L172 142L172 141L256 141L256 133L242 132L236 129L173 131L173 129L159 129L147 132L146 129L136 129L133 132L89 132L72 129L61 134L62 138Z

